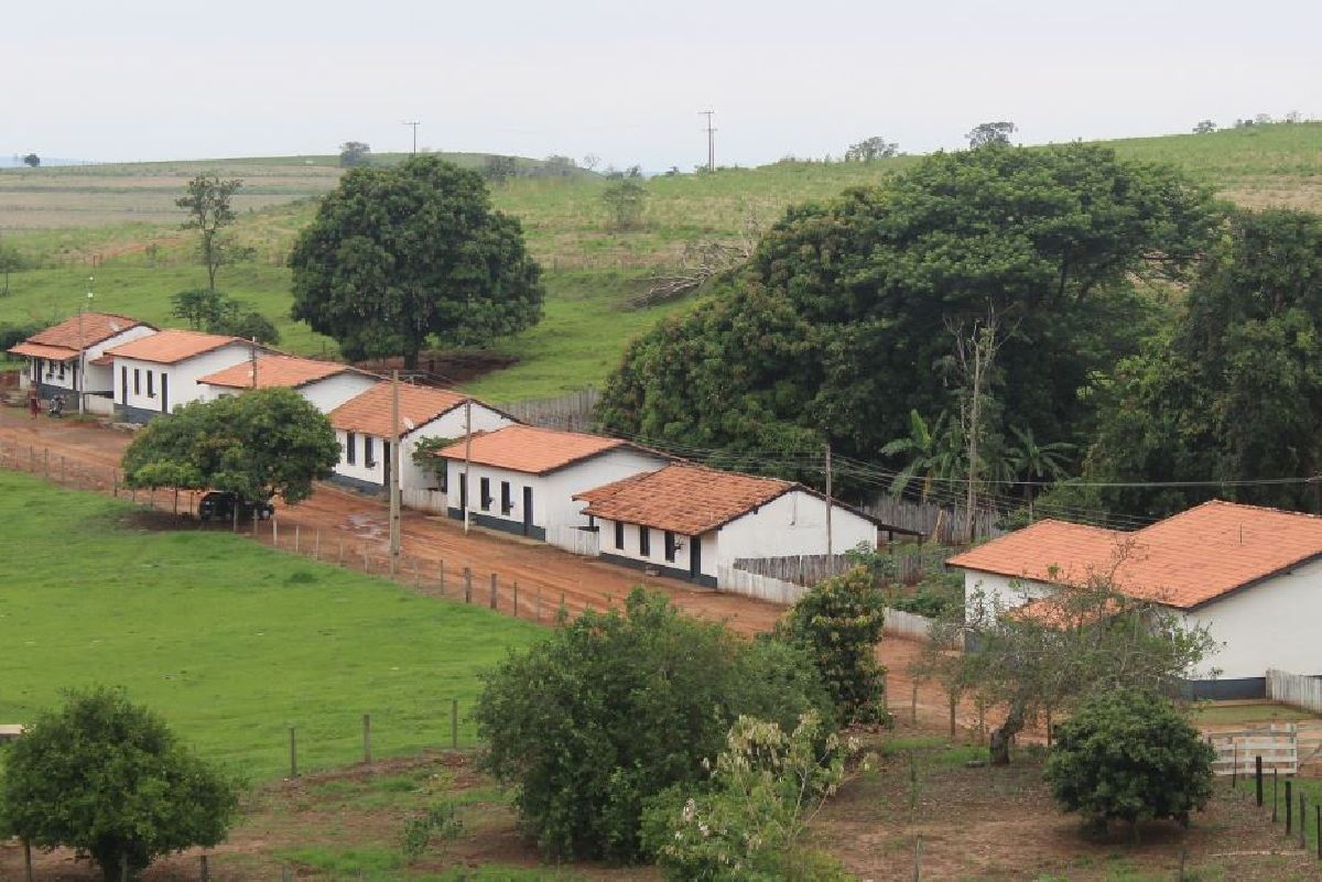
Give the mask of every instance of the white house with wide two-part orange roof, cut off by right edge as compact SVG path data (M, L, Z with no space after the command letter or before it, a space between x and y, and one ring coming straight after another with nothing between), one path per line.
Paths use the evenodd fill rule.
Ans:
M1260 698L1269 668L1322 676L1322 518L1208 502L1150 527L1118 532L1043 520L947 561L964 570L970 614L1009 610L1110 580L1220 643L1195 673L1194 695ZM994 605L994 606L993 606Z

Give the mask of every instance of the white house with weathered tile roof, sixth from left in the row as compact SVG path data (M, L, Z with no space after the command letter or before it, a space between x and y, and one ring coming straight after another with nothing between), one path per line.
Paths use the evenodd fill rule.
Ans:
M676 463L575 498L604 560L711 588L736 560L828 549L825 496L789 481ZM830 524L836 552L876 547L878 523L854 508L833 504Z

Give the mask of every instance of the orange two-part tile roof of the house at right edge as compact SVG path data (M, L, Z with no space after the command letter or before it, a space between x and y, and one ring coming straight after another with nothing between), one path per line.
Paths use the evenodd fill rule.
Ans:
M1317 515L1208 502L1133 532L1043 520L947 564L1058 585L1114 570L1132 597L1192 609L1319 555Z

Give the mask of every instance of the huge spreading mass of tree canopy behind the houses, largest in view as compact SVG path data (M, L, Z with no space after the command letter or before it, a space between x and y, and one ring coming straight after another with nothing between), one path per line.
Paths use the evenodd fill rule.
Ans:
M1175 172L1101 147L928 157L792 207L742 275L629 346L600 416L690 446L876 457L911 411L953 409L949 329L990 309L1010 331L988 383L999 419L1079 444L1079 390L1155 318L1136 281L1182 277L1210 206Z

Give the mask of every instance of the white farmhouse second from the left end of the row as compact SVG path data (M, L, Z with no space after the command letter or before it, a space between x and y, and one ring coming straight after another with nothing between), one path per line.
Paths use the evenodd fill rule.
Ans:
M201 378L266 351L238 337L173 329L115 346L106 353L114 359L115 413L128 423L147 423L202 400Z

